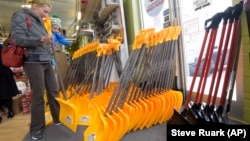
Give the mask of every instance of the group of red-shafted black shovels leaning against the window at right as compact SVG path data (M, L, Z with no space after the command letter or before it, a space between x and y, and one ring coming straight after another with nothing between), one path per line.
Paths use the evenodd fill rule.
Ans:
M224 113L228 114L231 106L232 92L237 69L237 62L240 50L240 35L239 35L239 18L243 9L243 2L239 2L233 7L228 7L224 12L215 14L212 18L205 21L205 35L197 60L197 65L193 75L190 90L185 99L184 107L181 113L174 111L174 115L168 121L168 124L226 124L224 121ZM206 103L203 102L204 89L207 82L208 73L212 65L211 59L216 42L217 31L220 27L220 22L223 21L218 53L212 74L212 81L209 88L209 93ZM208 39L208 40L207 40ZM229 44L230 43L230 44ZM228 52L229 51L229 52ZM205 54L204 54L205 53ZM202 57L205 56L205 61L201 64ZM228 56L228 57L226 57ZM226 60L228 59L228 60ZM227 62L227 63L225 63ZM225 72L223 72L226 66ZM201 76L198 82L196 96L194 101L191 101L191 96L194 93L194 85L197 73L201 68ZM224 79L222 74L225 73ZM223 80L223 81L221 81ZM223 82L219 105L216 106L218 90L220 82ZM225 102L228 104L227 110L224 111ZM212 100L212 101L211 101ZM227 116L227 115L226 115Z

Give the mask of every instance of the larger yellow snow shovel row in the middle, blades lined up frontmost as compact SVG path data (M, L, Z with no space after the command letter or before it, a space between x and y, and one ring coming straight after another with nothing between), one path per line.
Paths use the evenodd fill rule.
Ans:
M162 124L180 110L183 94L172 90L180 26L141 30L107 105L91 103L86 141L118 141L128 132ZM103 94L101 94L103 95ZM107 100L99 99L99 102Z

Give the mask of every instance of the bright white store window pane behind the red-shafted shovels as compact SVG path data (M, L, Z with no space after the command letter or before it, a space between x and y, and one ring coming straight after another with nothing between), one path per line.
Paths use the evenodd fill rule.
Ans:
M182 21L182 37L183 37L183 46L185 49L186 57L186 74L187 74L187 88L190 88L191 82L193 80L193 75L198 63L198 58L201 52L203 41L205 40L205 21L212 18L218 12L224 12L229 6L232 6L232 1L230 0L220 0L220 1L211 1L211 0L180 0L180 9L181 9L181 21ZM221 27L223 22L220 23L218 31L216 34L216 41L214 44L212 59L210 62L210 68L208 69L208 76L206 82L205 94L209 93L209 88L211 85L212 75L215 71L215 62L218 53L218 46L220 43L220 37L222 34ZM210 30L211 31L211 30ZM210 34L206 37L206 42L211 42ZM208 44L208 43L207 43ZM206 45L207 47L208 45ZM206 61L206 51L207 48L204 48L200 60L200 67L197 73L196 81L199 82L199 79L202 75L202 67ZM222 51L221 51L222 54ZM220 54L220 55L221 55ZM225 57L224 68L226 68L228 59L228 53ZM221 80L225 74L225 69L223 70ZM223 84L223 81L220 82L220 85ZM218 94L221 93L221 87L219 87ZM193 91L195 92L198 89L198 83L195 83ZM217 95L220 97L220 95Z

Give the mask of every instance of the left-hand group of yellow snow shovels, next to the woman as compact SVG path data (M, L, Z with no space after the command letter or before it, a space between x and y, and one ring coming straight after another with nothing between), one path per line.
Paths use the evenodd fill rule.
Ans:
M67 99L62 93L56 98L60 104L60 121L73 132L78 125L87 126L94 120L89 116L93 103L101 99L98 106L107 105L113 65L118 75L122 71L119 48L120 41L116 39L103 44L97 40L74 53L64 78Z

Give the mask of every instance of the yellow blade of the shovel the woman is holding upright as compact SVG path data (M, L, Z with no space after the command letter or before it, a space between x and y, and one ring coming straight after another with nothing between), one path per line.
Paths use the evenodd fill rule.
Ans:
M60 98L56 98L56 100L60 105L60 122L71 129L71 131L76 132L79 119L78 107L69 100L65 101Z

